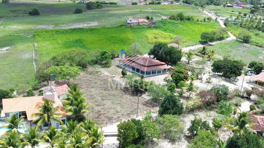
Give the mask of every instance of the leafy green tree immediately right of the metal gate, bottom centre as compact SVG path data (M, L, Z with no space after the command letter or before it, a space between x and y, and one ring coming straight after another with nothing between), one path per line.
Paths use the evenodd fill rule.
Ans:
M133 144L134 139L138 137L137 127L131 121L124 121L117 125L117 141L122 147L127 147Z

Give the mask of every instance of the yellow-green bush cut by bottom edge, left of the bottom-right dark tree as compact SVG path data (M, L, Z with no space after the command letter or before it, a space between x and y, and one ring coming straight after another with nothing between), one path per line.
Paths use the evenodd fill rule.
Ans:
M206 130L199 130L197 136L188 144L188 148L215 148L218 142L215 136Z

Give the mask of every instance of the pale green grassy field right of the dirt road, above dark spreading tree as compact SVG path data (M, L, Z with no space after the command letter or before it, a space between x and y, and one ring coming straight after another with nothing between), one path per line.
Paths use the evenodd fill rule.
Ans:
M254 44L245 44L239 40L208 46L208 49L214 49L221 56L228 54L236 60L243 60L245 63L253 60L263 61L260 57L264 54L264 48L257 47Z

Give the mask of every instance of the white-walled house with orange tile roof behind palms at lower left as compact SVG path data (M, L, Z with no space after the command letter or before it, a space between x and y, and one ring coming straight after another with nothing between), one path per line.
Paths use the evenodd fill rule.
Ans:
M38 113L38 109L36 105L39 102L42 102L44 99L50 99L55 102L54 107L56 106L60 107L59 112L64 114L60 116L60 119L65 124L67 120L66 119L67 115L65 115L66 111L61 101L59 100L59 97L57 96L56 92L44 92L43 96L3 99L2 100L2 104L3 104L2 113L5 114L6 118L10 118L13 114L18 115L18 117L25 116L26 123L24 124L24 126L33 127L33 126L36 126L36 123L31 123L31 121L36 119L36 117L32 117L32 114ZM1 125L2 124L3 123L1 122ZM60 124L59 122L52 120L51 125L56 128L59 128L63 124ZM41 127L42 129L47 129L48 124L44 124Z

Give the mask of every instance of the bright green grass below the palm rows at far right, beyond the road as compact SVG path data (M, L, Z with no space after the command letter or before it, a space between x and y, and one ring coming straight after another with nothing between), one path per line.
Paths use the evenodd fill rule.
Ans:
M232 34L235 35L236 37L238 37L240 31L246 31L245 28L242 28L238 25L234 25L232 23L229 23L227 27L232 32ZM256 33L259 35L255 36ZM250 40L252 43L258 44L259 46L262 46L262 47L264 46L264 33L263 32L256 31L256 30L250 30L249 35L252 36Z

